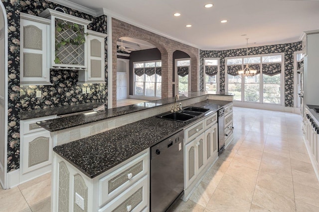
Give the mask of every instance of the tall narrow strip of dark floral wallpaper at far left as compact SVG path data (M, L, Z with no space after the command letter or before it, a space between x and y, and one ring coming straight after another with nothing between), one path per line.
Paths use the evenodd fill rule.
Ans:
M20 155L20 9L17 0L2 0L8 24L7 171L19 168Z

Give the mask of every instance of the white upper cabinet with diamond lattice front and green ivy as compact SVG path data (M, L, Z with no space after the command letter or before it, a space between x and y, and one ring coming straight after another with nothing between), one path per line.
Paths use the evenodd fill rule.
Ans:
M92 21L53 9L40 13L51 19L51 68L87 68L87 25Z

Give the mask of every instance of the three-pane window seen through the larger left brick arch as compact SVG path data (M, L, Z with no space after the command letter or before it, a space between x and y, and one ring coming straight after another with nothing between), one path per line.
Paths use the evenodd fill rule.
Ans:
M161 61L134 63L134 94L161 97Z

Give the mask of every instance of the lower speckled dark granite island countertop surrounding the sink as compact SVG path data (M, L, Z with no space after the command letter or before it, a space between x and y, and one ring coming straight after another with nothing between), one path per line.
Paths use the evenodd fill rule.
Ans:
M191 106L205 107L216 111L230 103L229 101L205 100ZM198 119L182 123L154 116L56 146L53 150L85 175L94 178L177 133L196 120Z

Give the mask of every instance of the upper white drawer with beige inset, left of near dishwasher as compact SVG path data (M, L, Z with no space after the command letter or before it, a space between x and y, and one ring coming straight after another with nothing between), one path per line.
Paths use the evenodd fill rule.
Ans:
M99 205L122 193L148 172L148 153L128 162L99 180Z

